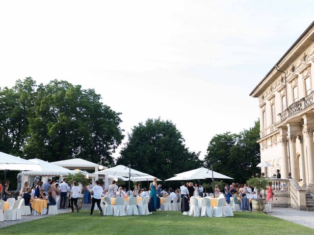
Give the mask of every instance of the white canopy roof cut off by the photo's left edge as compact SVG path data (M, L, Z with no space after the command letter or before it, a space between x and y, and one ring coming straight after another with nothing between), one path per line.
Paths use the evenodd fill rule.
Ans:
M0 170L41 170L37 163L0 152Z

